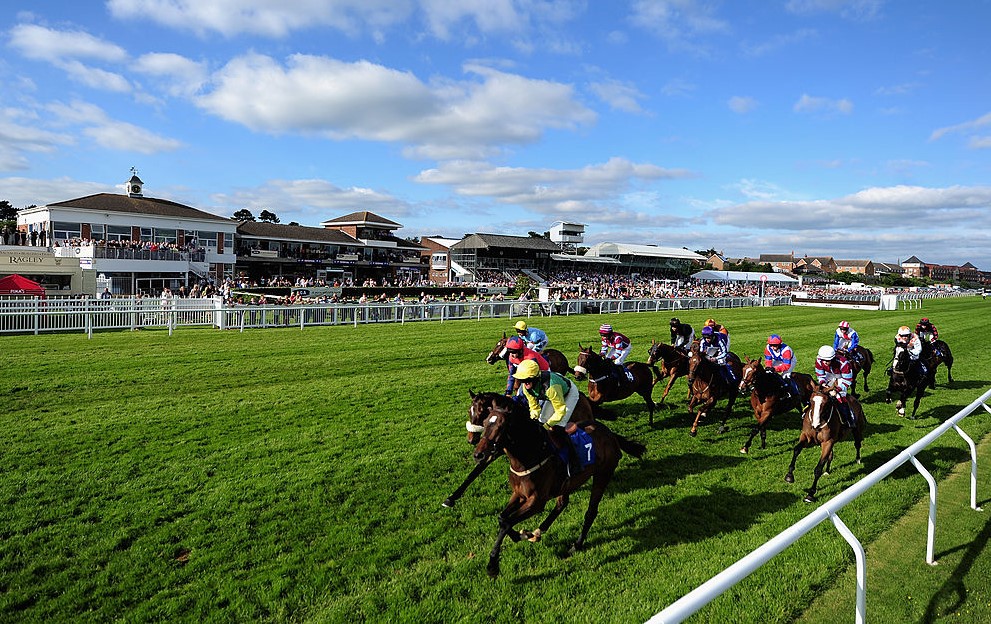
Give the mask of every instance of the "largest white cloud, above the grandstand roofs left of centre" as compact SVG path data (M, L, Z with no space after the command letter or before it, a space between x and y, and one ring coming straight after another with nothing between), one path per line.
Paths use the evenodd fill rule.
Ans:
M477 64L464 69L469 79L427 84L368 61L298 54L282 66L247 55L219 71L197 103L260 132L396 142L435 158L477 157L595 120L571 85Z

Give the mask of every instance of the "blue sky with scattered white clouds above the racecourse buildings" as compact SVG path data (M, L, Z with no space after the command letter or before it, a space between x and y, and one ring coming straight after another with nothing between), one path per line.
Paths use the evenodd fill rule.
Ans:
M0 199L991 270L983 0L17 0Z

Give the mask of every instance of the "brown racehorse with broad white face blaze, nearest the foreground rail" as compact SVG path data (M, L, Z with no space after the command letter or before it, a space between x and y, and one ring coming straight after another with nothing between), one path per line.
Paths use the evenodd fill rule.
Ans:
M849 394L847 402L854 415L854 422L857 426L852 430L842 424L839 412L839 404L829 395L827 386L815 384L812 396L809 398L809 406L802 414L802 433L798 437L798 444L791 456L791 465L788 466L788 474L785 475L785 482L795 482L795 461L802 449L810 446L821 446L822 453L819 455L819 463L816 464L813 472L812 487L805 495L805 502L812 503L816 500L816 491L819 485L819 477L828 475L830 466L833 463L833 444L844 439L847 434L853 434L853 444L857 447L857 457L854 459L858 464L860 461L860 446L864 440L864 428L867 419L864 418L864 410L860 402Z

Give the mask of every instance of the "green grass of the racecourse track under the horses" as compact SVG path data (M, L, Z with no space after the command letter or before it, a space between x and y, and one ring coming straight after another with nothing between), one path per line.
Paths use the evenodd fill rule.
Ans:
M680 317L698 327L716 316L741 355L756 356L769 333L781 333L806 372L837 322L853 323L879 360L865 400L865 465L852 465L852 445L841 444L820 482L826 500L991 386L974 340L986 333L986 312L973 298L926 302L924 312ZM884 404L883 368L895 329L922 313L953 347L957 382L947 388L941 370L910 421ZM668 317L608 320L642 360L651 338L667 339ZM574 358L579 341L597 341L602 320L532 324ZM640 622L813 508L801 496L817 452L799 458L794 485L783 480L797 415L777 420L766 450L742 456L748 403L738 403L729 433L717 435L710 421L692 439L682 380L653 428L639 397L612 405L614 428L648 453L621 463L587 550L562 557L580 530L582 491L541 543L507 543L502 576L488 579L505 462L454 509L440 502L472 466L468 390L504 387L505 370L483 357L511 326L3 337L0 620ZM964 428L980 439L991 424L978 416ZM962 440L944 436L920 459L942 478L967 457ZM926 491L903 468L842 517L871 543ZM694 620L792 621L851 561L835 530L820 527ZM958 621L980 621L967 609L969 600Z

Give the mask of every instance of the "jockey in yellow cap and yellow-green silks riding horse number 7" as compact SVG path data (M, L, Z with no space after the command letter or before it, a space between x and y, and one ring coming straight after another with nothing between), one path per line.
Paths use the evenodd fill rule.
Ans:
M513 377L520 380L523 395L530 406L530 418L547 427L556 447L567 449L569 476L580 472L578 454L564 428L568 426L581 393L565 377L553 371L541 371L533 360L521 362Z

